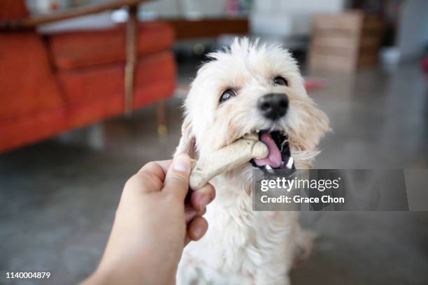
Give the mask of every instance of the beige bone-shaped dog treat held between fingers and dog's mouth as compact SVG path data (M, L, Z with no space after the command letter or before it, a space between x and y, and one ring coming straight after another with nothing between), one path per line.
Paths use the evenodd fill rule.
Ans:
M199 159L190 173L190 189L200 189L220 173L237 168L251 159L263 159L268 154L268 148L259 141L257 134L245 135L230 145Z

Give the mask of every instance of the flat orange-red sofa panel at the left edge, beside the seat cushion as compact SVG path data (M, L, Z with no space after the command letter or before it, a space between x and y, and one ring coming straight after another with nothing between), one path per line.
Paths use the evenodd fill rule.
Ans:
M0 37L0 124L62 105L63 98L38 34L22 31Z

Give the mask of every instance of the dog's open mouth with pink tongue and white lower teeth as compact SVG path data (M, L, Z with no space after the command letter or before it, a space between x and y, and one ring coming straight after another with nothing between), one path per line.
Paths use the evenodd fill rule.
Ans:
M269 149L269 155L264 159L252 159L250 162L262 170L294 169L287 135L280 131L259 131L259 140Z

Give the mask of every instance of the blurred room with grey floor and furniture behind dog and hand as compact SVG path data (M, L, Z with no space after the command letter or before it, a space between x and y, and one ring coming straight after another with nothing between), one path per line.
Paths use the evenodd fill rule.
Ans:
M315 168L426 170L427 15L425 0L0 1L1 274L96 268L124 182L171 158L198 66L234 36L297 57L333 129ZM301 220L319 237L294 284L428 282L427 212Z

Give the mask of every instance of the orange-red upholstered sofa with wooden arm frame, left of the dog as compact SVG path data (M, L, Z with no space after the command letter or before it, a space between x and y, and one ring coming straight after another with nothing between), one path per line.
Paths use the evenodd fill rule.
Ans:
M27 16L24 0L0 1L0 21ZM169 98L176 87L173 29L138 27L133 109ZM0 31L0 152L122 114L125 34L124 26L50 36Z

